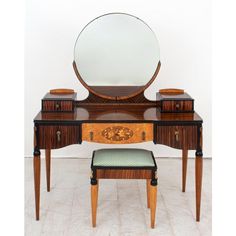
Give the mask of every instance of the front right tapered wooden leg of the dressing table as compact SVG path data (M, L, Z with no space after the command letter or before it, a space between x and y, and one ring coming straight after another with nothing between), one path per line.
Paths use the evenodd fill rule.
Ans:
M195 180L196 180L196 221L200 221L201 191L202 191L202 152L196 152Z

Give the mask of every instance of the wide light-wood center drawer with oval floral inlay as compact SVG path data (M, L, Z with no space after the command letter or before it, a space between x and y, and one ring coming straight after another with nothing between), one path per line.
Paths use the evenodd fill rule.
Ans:
M110 144L153 141L153 124L84 123L82 124L82 140Z

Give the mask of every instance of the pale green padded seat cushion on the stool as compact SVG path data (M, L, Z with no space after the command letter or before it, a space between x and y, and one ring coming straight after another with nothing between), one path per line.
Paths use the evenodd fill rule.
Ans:
M144 149L100 149L94 151L93 166L155 167L151 151Z

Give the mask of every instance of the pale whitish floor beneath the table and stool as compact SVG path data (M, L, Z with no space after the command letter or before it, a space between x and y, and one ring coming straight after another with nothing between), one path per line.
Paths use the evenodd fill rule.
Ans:
M201 222L195 221L194 159L181 192L181 159L158 158L156 228L150 229L143 180L101 180L97 228L90 218L90 160L52 159L51 192L41 162L41 213L35 221L32 158L25 159L25 235L211 235L211 160L204 160Z

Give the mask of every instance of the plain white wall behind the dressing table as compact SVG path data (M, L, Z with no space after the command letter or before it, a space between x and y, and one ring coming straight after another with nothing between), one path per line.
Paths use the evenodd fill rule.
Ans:
M155 99L156 91L161 88L185 89L195 99L195 110L204 120L203 151L205 157L211 157L210 0L27 0L25 156L32 156L33 119L41 109L41 99L46 92L66 87L77 91L78 99L86 98L88 93L72 68L74 43L91 19L109 12L136 15L156 33L162 66L156 81L146 91L146 97ZM93 149L104 146L72 145L54 150L53 156L90 157ZM156 156L181 155L179 150L151 142L126 146L148 148ZM190 156L194 156L193 151Z

